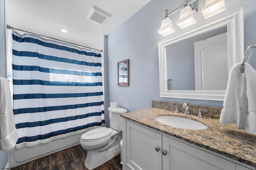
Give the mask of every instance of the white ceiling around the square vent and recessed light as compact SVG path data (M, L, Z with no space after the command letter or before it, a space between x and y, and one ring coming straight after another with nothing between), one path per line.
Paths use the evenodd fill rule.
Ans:
M6 23L95 49L103 49L109 35L150 0L5 0ZM112 17L104 25L86 19L92 6ZM67 29L62 33L60 29Z

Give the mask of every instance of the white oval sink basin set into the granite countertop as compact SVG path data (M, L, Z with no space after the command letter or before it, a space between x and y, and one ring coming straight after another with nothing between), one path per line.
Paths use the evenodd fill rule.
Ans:
M191 130L202 130L206 129L207 126L199 121L195 121L192 119L187 119L184 117L177 116L158 116L155 118L156 121L163 123L168 126L178 127L181 129L191 129Z

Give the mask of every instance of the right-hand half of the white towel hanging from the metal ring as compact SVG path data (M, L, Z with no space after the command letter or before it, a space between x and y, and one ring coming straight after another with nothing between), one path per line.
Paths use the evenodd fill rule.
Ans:
M245 63L244 76L246 77L246 96L248 98L248 113L244 130L256 135L256 70Z

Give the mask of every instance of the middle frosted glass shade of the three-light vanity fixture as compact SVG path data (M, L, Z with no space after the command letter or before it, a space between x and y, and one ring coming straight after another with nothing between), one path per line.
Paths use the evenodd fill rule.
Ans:
M181 28L186 28L196 23L196 18L193 16L192 9L188 5L180 10L180 18L176 24Z

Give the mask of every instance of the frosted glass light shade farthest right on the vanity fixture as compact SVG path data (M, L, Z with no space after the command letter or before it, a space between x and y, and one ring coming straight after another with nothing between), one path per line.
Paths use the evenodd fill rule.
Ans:
M225 0L206 0L201 12L204 19L207 19L222 11L225 11L226 9Z

